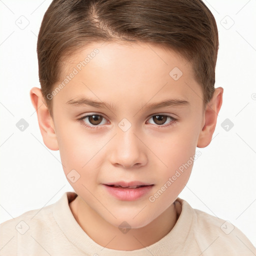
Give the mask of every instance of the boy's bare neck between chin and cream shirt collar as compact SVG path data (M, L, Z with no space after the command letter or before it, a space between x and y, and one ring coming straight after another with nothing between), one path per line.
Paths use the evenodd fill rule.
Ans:
M118 227L91 209L79 195L69 206L77 223L92 240L103 247L116 250L135 250L157 242L170 232L178 217L172 203L149 224L122 233Z

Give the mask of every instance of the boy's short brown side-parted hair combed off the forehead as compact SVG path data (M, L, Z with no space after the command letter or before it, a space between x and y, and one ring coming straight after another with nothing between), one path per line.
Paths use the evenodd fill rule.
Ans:
M47 94L60 81L60 64L93 41L149 42L192 63L204 108L212 98L218 51L214 16L201 0L53 0L37 40L39 81Z

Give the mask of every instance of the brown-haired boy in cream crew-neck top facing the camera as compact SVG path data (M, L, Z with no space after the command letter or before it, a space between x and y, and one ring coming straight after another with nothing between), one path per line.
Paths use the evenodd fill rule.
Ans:
M215 129L218 33L201 0L53 0L30 97L68 182L0 224L0 255L255 255L178 197Z

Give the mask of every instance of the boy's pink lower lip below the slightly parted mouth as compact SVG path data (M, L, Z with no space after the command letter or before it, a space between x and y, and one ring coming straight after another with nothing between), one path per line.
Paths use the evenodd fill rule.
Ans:
M141 186L138 188L122 188L105 185L107 191L120 200L133 201L147 194L153 185Z

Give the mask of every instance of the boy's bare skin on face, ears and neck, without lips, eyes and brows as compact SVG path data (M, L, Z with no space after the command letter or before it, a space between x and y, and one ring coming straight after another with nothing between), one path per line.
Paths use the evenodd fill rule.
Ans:
M193 164L155 201L150 202L149 196L195 154L196 146L210 143L223 88L215 88L203 109L201 86L194 80L191 64L171 49L142 42L92 43L63 62L63 76L94 48L99 53L53 96L53 118L39 88L33 87L30 97L45 145L59 150L65 175L71 169L80 174L74 183L67 179L78 194L69 204L78 224L101 246L139 249L157 242L175 225L178 213L173 202L187 183ZM183 73L178 80L169 75L173 67ZM115 110L66 104L81 95L111 103ZM142 107L169 98L187 100L189 106ZM103 116L97 123L83 119L98 129L77 121L85 114ZM157 122L156 114L177 121L166 126L173 120ZM118 127L123 118L131 124L126 131ZM119 180L139 180L154 186L137 200L120 200L102 185ZM118 228L123 221L131 227L126 233Z

